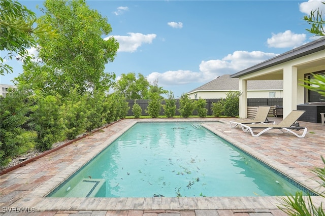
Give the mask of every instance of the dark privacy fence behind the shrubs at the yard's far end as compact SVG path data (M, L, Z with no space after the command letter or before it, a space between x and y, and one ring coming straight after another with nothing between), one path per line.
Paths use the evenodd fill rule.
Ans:
M208 109L208 116L212 116L212 103L215 103L219 101L220 99L206 99L207 105L206 109ZM128 102L128 106L130 109L128 110L127 116L133 116L132 113L132 107L134 104L134 100L126 100ZM148 102L149 100L136 100L136 102L141 106L142 108L142 116L148 116L148 114L145 112L147 110ZM282 106L283 98L247 98L247 106ZM166 102L163 100L161 102L162 105L165 105ZM176 116L179 115L178 112L179 109L179 99L176 99ZM193 115L197 115L197 111L193 112ZM164 110L161 109L159 115L164 115Z

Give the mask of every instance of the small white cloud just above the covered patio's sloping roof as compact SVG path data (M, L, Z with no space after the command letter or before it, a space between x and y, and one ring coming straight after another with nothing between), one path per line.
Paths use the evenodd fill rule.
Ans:
M272 37L268 39L269 47L275 48L295 48L304 44L306 34L296 34L290 30L280 33L272 33Z

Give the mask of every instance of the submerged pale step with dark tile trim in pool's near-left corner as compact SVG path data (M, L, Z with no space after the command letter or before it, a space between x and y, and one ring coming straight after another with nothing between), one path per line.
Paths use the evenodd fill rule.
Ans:
M65 197L105 197L105 195L105 179L83 178L71 191L68 190Z

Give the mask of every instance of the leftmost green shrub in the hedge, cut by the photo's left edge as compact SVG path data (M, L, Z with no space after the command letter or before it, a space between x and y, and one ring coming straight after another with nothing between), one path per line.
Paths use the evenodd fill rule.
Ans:
M28 131L27 123L30 113L31 93L25 89L17 89L9 92L5 98L1 98L0 110L0 164L5 165L9 158L19 155L35 145L37 133Z

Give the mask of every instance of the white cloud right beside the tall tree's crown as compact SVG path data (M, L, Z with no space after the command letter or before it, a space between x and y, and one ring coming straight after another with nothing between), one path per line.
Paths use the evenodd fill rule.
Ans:
M151 44L153 39L156 38L156 34L142 34L129 32L128 36L114 35L113 37L118 41L119 48L118 52L130 52L133 53L137 51L142 44ZM105 38L108 40L110 37Z

